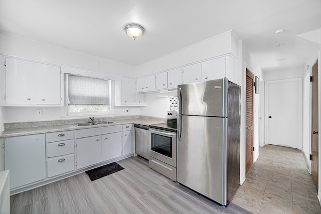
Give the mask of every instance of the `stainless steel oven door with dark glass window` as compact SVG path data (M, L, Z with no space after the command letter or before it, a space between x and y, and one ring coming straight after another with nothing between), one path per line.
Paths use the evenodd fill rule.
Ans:
M149 156L176 167L176 133L149 128Z

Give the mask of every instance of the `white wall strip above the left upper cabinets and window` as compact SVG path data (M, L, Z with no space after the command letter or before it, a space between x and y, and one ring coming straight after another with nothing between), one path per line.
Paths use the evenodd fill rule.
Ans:
M131 65L1 32L0 53L118 76L135 77L135 68Z

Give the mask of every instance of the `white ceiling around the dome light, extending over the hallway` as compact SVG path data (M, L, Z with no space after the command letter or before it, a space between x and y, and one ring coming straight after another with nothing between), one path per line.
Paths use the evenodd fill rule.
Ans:
M131 22L145 28L136 41L124 31ZM320 28L320 0L0 0L1 32L133 66L229 30L263 71L303 66L296 36Z

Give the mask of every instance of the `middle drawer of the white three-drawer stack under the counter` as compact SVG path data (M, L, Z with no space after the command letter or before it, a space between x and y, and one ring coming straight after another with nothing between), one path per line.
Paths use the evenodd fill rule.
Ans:
M58 141L47 144L47 157L57 157L74 153L74 140Z

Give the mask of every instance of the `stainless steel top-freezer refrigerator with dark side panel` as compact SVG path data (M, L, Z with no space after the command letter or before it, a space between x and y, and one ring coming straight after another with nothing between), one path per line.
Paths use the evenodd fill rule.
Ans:
M240 183L240 93L226 78L178 86L177 180L222 205Z

